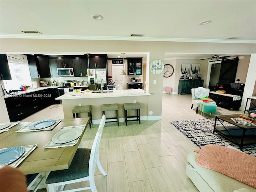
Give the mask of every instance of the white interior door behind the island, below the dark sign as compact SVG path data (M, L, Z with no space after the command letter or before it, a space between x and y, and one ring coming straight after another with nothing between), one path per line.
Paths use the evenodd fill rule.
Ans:
M126 75L121 75L123 64L112 64L112 81L117 86L120 84L123 89L126 89Z

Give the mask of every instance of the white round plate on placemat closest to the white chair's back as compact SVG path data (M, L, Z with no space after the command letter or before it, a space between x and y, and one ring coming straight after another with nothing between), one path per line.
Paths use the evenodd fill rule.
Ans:
M77 128L67 129L55 134L52 138L52 141L58 144L67 143L80 137L82 132L83 131L81 129Z

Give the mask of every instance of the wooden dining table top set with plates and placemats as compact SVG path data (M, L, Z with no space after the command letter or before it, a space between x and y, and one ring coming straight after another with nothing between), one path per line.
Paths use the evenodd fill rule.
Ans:
M17 166L24 174L68 169L88 126L89 120L90 118L62 119L52 130L16 132L22 127L31 124L31 122L20 122L8 131L0 133L0 148L37 144L36 148ZM77 144L74 146L59 148L44 147L61 128L79 125L85 125L85 128Z

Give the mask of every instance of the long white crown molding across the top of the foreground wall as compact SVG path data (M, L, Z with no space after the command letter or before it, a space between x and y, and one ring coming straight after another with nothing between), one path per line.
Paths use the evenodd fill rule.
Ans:
M164 42L202 42L202 43L256 44L256 40L152 38L152 37L112 37L112 36L42 35L42 34L0 34L0 38L67 39L67 40L114 40L114 41L161 41L161 42L164 41Z

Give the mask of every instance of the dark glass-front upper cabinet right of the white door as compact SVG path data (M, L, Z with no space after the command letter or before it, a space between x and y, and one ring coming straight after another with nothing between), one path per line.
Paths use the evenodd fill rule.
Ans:
M128 75L142 74L142 58L127 58Z

